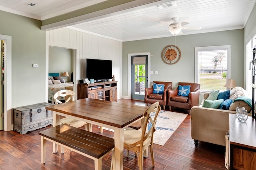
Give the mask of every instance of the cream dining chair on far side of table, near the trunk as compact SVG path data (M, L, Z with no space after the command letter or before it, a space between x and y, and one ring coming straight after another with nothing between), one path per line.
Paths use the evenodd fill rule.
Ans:
M69 102L69 101L74 101L75 95L76 95L76 93L72 90L57 91L53 96L54 103L55 103L55 105L62 103L60 100L58 100L58 97L65 97L65 103ZM71 118L71 117L65 117L65 118L60 119L60 123L70 125L70 126L76 127L76 128L82 127L85 125L85 130L88 130L88 131L92 130L90 123L86 123L84 121L79 121L79 120Z

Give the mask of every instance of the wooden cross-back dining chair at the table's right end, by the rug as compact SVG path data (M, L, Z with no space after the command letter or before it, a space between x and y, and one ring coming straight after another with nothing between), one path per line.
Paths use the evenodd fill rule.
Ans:
M143 169L143 155L148 146L150 146L150 154L153 167L155 166L154 162L154 153L153 153L153 136L156 131L156 119L161 110L159 102L155 102L150 105L144 111L145 121L142 125L142 129L136 130L134 128L126 128L124 130L124 149L127 149L126 157L129 156L129 150L135 152L136 156L138 155L138 166L140 170ZM150 130L148 130L148 125L152 125ZM115 153L112 152L112 162L114 164ZM111 168L114 168L111 166Z

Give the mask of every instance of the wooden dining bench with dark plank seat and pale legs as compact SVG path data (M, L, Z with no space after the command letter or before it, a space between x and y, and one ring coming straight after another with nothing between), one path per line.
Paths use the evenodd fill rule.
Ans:
M94 160L95 170L101 170L102 158L114 150L114 139L69 125L58 125L39 132L41 163L45 163L46 141L49 140ZM61 151L64 153L64 150Z

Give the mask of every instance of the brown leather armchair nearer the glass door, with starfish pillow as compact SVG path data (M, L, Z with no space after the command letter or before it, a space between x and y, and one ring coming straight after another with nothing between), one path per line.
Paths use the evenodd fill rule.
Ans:
M167 89L172 89L172 82L165 82L165 81L153 81L153 84L164 84L164 94L158 94L158 93L153 93L153 85L152 87L145 88L145 99L144 103L155 103L159 102L159 105L162 105L165 109L166 106L166 91Z

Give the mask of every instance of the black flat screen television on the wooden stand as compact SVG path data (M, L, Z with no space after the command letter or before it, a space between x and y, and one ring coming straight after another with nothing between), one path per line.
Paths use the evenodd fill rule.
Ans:
M86 78L95 82L112 78L112 60L86 59Z

